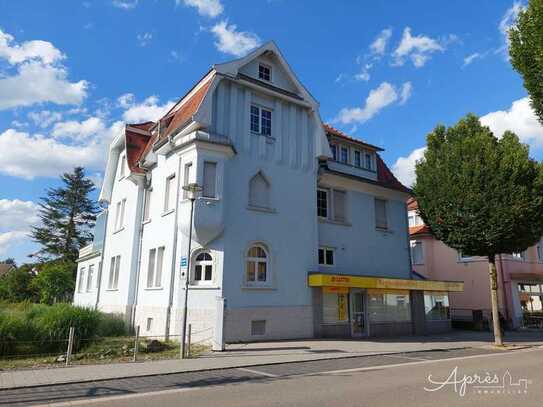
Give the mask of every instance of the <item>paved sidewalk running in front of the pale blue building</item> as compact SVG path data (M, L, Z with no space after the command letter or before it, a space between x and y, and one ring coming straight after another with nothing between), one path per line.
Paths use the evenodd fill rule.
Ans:
M195 359L4 371L0 372L0 390L379 354L480 348L490 346L491 340L489 333L454 331L447 335L392 339L314 339L233 344L225 352L210 353ZM543 333L508 332L505 341L508 345L541 346Z

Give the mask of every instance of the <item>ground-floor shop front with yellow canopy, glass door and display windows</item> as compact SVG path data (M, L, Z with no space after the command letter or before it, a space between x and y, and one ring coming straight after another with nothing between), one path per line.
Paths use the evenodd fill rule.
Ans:
M315 336L424 335L450 329L449 292L462 282L310 274Z

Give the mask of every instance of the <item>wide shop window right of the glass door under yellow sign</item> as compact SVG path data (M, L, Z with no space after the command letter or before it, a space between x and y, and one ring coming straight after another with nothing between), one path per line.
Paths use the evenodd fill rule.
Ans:
M368 290L368 312L372 322L411 320L409 291Z

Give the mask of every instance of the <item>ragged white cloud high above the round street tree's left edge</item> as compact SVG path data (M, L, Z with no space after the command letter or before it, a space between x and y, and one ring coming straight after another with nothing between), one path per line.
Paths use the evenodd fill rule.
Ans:
M403 65L405 59L410 58L413 65L420 68L426 64L432 53L443 52L444 50L444 45L440 44L438 40L424 35L413 37L411 28L405 27L402 40L392 56L396 66Z

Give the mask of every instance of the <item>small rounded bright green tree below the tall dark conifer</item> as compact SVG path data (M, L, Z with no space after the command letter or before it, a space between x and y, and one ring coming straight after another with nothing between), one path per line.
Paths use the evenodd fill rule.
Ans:
M54 304L71 301L75 287L74 268L74 263L67 261L45 263L32 280L32 288L40 302Z

